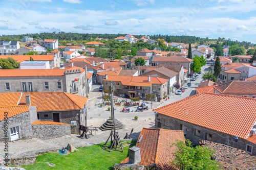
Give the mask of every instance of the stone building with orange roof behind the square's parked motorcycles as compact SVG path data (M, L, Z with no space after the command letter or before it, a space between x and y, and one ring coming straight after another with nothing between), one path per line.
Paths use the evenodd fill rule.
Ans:
M151 76L112 76L105 75L103 90L108 89L110 82L115 85L116 94L126 94L132 98L140 96L145 99L146 94L151 94L158 101L167 95L168 80Z

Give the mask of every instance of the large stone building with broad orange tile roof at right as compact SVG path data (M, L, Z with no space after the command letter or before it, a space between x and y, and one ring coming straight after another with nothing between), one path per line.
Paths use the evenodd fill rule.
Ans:
M183 130L198 144L205 139L256 154L256 99L200 93L154 109L156 128Z

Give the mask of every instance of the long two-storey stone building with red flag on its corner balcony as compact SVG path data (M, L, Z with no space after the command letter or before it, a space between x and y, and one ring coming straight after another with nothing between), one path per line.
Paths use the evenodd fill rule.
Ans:
M60 92L87 95L86 70L79 67L66 69L1 69L0 93Z

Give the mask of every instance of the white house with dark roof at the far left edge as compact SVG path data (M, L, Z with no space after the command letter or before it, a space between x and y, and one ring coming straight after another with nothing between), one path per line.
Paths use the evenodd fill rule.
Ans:
M0 41L0 55L15 55L19 48L18 41Z

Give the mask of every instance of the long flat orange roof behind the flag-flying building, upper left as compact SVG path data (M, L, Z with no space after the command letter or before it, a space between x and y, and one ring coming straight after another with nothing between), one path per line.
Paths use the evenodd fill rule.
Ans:
M33 58L34 61L52 61L54 55L0 55L0 58L8 58L11 57L14 60L24 60L30 61L30 57Z

